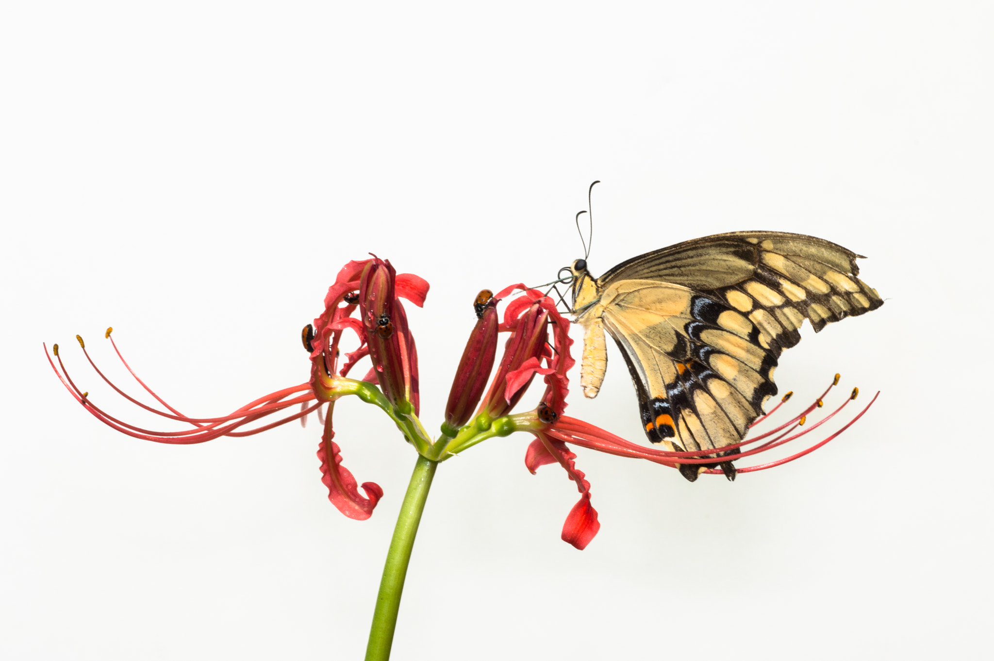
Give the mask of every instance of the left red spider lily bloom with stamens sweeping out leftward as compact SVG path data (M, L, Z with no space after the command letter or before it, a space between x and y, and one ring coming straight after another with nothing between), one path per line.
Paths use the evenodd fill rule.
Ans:
M321 442L318 446L317 456L321 461L322 482L328 487L328 499L344 515L352 519L368 519L373 513L377 502L383 496L383 489L375 482L365 482L361 486L366 493L363 497L359 493L358 482L355 477L341 465L342 457L340 448L332 438L334 430L332 428L332 408L335 400L344 395L356 394L365 401L374 402L379 405L389 406L386 401L376 401L377 396L383 397L376 389L365 389L361 382L354 382L346 379L349 371L363 357L370 354L370 334L363 323L352 316L357 309L359 294L363 288L363 276L366 273L376 271L383 275L377 275L373 282L366 287L370 297L376 293L382 301L389 296L392 300L384 307L385 313L393 314L395 333L398 340L403 338L403 342L398 342L403 347L402 359L400 361L388 359L370 370L364 381L377 383L378 377L383 375L384 381L391 384L403 384L400 394L405 402L412 403L416 407L417 403L417 360L414 350L414 338L408 328L407 318L404 316L403 307L396 296L403 296L412 301L415 305L422 305L427 294L428 283L420 277L401 273L395 275L393 266L389 261L378 258L365 259L361 261L350 261L338 273L335 283L328 289L324 299L325 309L322 314L314 320L313 326L308 325L303 331L304 346L311 354L311 379L309 383L300 384L290 388L285 388L274 393L264 395L248 405L237 409L228 415L216 417L192 417L180 413L170 406L161 397L155 394L138 376L131 370L124 360L120 351L111 337L111 328L108 328L105 337L110 340L118 358L124 367L131 373L138 384L151 395L165 410L145 405L107 379L96 367L96 364L86 352L83 338L77 336L86 360L96 371L96 373L106 382L118 395L128 402L144 409L145 411L156 413L167 419L184 422L192 428L181 431L157 431L145 429L129 424L110 413L106 413L88 398L88 393L81 391L70 377L62 357L59 354L59 345L53 347L54 355L59 362L56 368L52 358L49 357L49 364L56 372L73 397L80 402L90 414L94 415L101 422L108 426L146 440L154 440L162 443L189 444L202 443L219 436L248 436L258 433L274 426L284 424L295 419L304 419L308 413L317 412L321 418L320 408L328 404L328 413L322 419L324 431ZM316 329L316 331L315 331ZM339 368L338 359L340 356L339 342L345 330L354 331L359 338L359 348L347 354L345 364ZM375 345L379 350L383 345ZM48 351L46 351L48 356ZM382 369L378 369L378 367ZM389 369L388 369L389 368ZM61 369L61 371L60 371ZM398 374L402 375L398 377ZM397 391L395 391L396 393ZM275 421L260 426L244 428L249 423L255 422L273 413L284 412L285 410L300 405L300 411ZM409 405L411 406L411 405Z

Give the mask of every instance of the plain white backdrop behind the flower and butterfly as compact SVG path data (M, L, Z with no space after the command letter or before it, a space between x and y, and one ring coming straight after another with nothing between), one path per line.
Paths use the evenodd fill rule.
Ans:
M73 402L42 342L144 422L73 339L137 393L113 325L167 401L223 414L306 380L300 327L375 251L431 283L411 318L433 430L473 296L581 256L594 179L594 273L734 230L869 255L887 304L806 326L777 382L798 408L835 372L830 404L883 394L734 484L579 449L602 523L583 552L559 539L575 485L528 473L526 435L443 464L395 658L987 651L990 5L356 4L3 10L0 656L361 658L414 465L382 414L336 410L345 465L386 491L351 521L313 420L126 437ZM641 441L611 351L600 397L575 391L569 413Z

